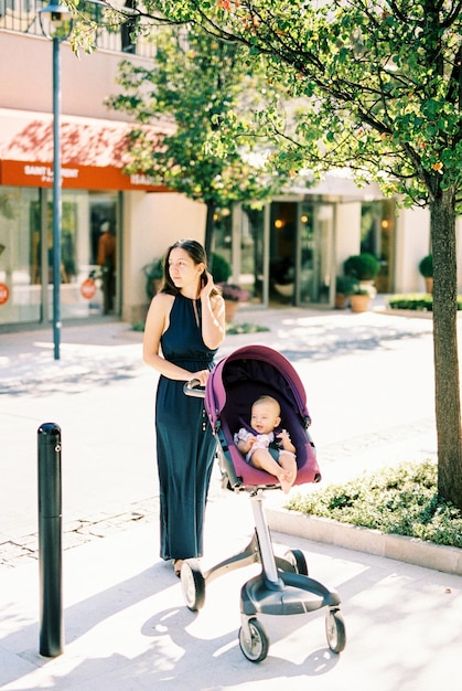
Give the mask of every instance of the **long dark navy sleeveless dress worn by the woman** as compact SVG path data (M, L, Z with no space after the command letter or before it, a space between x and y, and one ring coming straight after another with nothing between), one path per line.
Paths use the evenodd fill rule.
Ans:
M213 369L216 350L204 344L201 323L201 300L175 296L170 326L161 338L165 360L190 372ZM160 555L164 560L203 554L205 503L216 450L204 400L186 396L183 385L161 375L155 397Z

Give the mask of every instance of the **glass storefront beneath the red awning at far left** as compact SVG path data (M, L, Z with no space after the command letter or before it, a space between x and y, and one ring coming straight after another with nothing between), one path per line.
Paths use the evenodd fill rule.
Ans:
M61 318L116 313L118 194L63 190ZM103 256L104 230L114 238ZM98 255L99 251L99 255ZM100 262L100 263L98 263ZM53 318L53 198L35 188L1 188L0 326Z

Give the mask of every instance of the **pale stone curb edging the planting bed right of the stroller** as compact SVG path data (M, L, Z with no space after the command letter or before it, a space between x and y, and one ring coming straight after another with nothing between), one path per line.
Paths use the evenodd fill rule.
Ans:
M462 576L462 550L340 523L287 509L266 509L270 530Z

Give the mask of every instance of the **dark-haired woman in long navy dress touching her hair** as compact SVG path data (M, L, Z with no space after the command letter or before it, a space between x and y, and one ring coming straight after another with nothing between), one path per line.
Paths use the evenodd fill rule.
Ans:
M216 442L203 398L186 396L184 382L203 386L225 338L225 306L207 272L204 248L194 240L172 245L164 284L148 311L144 362L161 374L155 398L160 485L161 557L202 556L204 512Z

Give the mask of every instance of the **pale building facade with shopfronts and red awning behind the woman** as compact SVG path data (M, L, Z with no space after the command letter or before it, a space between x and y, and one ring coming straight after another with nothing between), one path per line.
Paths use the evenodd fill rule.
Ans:
M202 241L205 208L155 180L123 172L133 124L108 110L105 99L118 91L120 61L149 64L152 45L133 47L126 30L100 39L90 55L76 57L66 42L60 51L62 319L109 313L135 323L146 313L143 268L180 237ZM52 42L42 35L29 0L0 0L0 329L6 330L52 319ZM153 146L168 127L150 127ZM107 232L111 257L103 256ZM379 291L422 291L418 264L429 252L428 212L398 210L376 185L358 190L348 177L331 174L259 211L222 210L216 217L215 252L229 261L232 279L250 291L256 306L333 307L335 276L359 251L380 258Z

